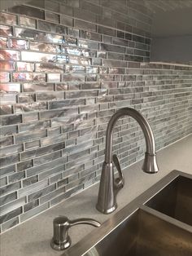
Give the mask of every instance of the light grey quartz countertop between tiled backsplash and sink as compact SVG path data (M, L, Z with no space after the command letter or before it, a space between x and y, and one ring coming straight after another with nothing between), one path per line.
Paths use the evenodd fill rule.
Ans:
M95 218L103 223L171 170L176 169L192 174L192 135L160 150L157 153L157 159L159 164L159 173L157 174L142 172L142 161L124 170L125 184L117 196L118 208L114 213L104 215L95 209L98 196L98 184L96 184L61 202L52 209L46 210L46 212L39 214L37 217L20 224L20 226L3 233L0 236L0 255L61 255L63 252L57 252L50 248L53 218L59 215L66 215L72 219L88 217ZM69 231L72 237L72 245L80 241L94 228L88 225L72 227Z

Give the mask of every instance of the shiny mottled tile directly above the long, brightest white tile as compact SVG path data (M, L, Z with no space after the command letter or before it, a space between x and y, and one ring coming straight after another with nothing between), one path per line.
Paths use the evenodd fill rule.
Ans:
M61 51L60 46L44 43L44 42L30 42L30 49L33 51L46 51L49 53L50 52L59 53Z

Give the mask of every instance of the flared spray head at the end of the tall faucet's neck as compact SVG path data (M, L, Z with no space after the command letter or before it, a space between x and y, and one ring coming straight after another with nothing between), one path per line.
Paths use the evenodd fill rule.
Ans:
M146 152L142 170L147 174L156 174L159 171L156 161L156 154L149 154Z

